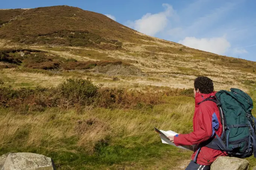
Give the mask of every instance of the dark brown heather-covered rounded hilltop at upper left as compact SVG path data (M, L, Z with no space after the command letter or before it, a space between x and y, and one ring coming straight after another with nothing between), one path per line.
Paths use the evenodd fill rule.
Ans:
M122 46L120 41L151 39L105 15L70 6L4 10L0 17L0 38L17 43L94 47L105 43L113 49Z

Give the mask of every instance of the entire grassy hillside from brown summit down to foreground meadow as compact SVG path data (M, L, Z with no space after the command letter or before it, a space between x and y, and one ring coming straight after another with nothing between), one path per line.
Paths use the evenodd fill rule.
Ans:
M162 144L154 126L192 131L197 76L256 100L256 62L69 6L0 10L0 18L0 155L40 153L60 170L182 170L191 152Z

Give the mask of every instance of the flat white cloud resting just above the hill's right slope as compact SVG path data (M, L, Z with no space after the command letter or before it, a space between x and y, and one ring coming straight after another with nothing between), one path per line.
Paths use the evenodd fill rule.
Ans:
M185 39L180 40L178 43L194 49L212 52L219 55L223 55L230 47L230 43L225 37L201 39L195 37L186 37Z

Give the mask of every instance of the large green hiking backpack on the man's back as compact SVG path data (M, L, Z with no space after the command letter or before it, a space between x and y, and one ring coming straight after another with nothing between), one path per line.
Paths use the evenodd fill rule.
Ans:
M253 100L242 90L236 88L230 90L218 91L215 96L204 100L210 100L217 104L223 133L220 137L214 133L213 138L202 143L201 146L222 150L230 156L238 158L247 158L254 153L256 158L256 131L254 126L256 119L251 114ZM214 122L213 129L218 129Z

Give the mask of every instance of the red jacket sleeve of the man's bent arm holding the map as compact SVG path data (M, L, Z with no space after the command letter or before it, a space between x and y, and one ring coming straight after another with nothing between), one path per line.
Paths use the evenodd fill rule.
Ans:
M212 137L212 111L206 105L200 105L196 119L196 129L190 134L180 134L174 137L176 146L200 144Z

